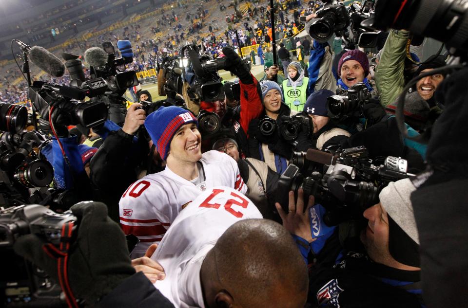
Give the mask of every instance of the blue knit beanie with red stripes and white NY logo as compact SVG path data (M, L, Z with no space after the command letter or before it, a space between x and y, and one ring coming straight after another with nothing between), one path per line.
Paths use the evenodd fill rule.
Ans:
M163 160L166 160L169 154L171 141L177 129L189 123L195 123L198 127L198 121L192 112L176 106L160 107L146 117L146 130Z

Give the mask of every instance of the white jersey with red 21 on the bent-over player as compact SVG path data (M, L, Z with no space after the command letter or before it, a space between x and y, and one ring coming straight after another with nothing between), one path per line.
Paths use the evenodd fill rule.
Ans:
M199 195L176 217L151 257L166 273L155 287L175 307L204 308L201 264L226 229L248 218L262 215L235 189L217 186Z

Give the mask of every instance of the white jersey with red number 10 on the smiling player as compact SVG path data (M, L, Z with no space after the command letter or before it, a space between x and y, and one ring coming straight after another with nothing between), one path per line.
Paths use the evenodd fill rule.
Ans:
M247 192L237 163L229 155L212 150L203 153L199 162L205 181L197 185L166 166L136 181L123 194L119 201L120 225L125 234L140 240L132 258L143 256L152 243L159 242L183 207L203 191L221 185Z

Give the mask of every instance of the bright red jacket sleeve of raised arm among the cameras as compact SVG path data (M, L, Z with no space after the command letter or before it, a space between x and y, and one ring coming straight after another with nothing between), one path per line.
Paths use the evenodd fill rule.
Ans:
M260 87L258 86L258 81L252 75L254 80L253 84L243 84L239 81L240 84L240 119L239 124L244 130L245 134L249 135L249 123L255 118L260 116L260 113L263 111L263 104L261 98Z

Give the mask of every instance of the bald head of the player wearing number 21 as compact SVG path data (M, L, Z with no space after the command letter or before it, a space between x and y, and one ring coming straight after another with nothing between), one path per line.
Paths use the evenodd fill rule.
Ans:
M291 235L272 220L245 219L232 225L203 267L211 274L202 273L203 286L211 289L204 290L210 308L223 307L220 302L226 298L243 308L302 308L306 302L306 264Z

